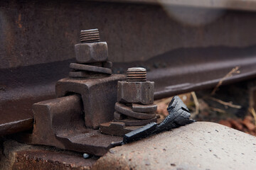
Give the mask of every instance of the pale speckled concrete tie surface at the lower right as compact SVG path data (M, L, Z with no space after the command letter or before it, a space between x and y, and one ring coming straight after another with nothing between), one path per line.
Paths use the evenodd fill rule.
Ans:
M92 169L256 169L256 137L196 122L112 148Z

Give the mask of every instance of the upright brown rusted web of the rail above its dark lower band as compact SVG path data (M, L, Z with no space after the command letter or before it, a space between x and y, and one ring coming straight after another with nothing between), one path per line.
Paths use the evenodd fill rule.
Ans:
M18 12L10 11L11 8ZM215 13L215 10L209 12ZM35 17L38 20L35 21ZM256 26L254 20L254 12L223 11L210 24L193 27L176 21L159 5L101 5L100 2L67 0L61 4L58 1L36 4L33 1L3 1L1 44L5 45L1 46L3 61L0 68L73 59L80 29L92 27L102 30L101 38L108 42L113 62L146 61L180 48L249 47L256 42L252 38ZM59 29L61 26L65 29Z

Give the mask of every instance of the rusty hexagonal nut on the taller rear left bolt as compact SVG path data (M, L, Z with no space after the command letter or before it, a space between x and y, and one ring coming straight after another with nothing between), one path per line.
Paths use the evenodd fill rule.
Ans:
M75 59L79 63L107 62L107 42L80 43L75 45Z

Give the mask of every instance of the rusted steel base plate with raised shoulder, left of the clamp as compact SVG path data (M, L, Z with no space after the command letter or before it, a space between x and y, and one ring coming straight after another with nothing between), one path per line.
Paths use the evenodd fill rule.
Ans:
M78 95L36 103L33 133L21 134L17 140L102 156L122 138L87 128L82 110L82 98Z

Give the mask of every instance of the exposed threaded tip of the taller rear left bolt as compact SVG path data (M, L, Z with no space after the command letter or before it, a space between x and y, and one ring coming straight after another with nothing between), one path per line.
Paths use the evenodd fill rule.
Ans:
M81 43L99 42L99 41L100 41L100 33L97 28L91 29L91 30L81 30L80 32Z

